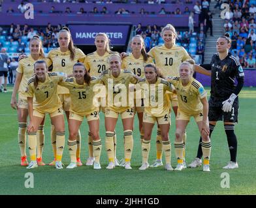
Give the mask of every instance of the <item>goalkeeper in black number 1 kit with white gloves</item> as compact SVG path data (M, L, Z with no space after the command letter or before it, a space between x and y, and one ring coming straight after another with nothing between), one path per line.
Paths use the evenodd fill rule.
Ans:
M229 144L229 152L231 161L224 166L225 169L238 168L236 162L237 139L234 134L234 124L238 122L238 94L244 85L244 72L239 60L229 53L231 47L231 39L229 34L220 36L216 42L217 52L212 57L210 64L202 64L203 68L212 70L211 72L211 92L209 99L209 123L210 136L218 120L224 121L225 133L227 135L227 142ZM235 85L235 79L237 85ZM201 142L202 138L200 138ZM200 158L202 157L201 143L197 157L189 167L195 168L202 164Z

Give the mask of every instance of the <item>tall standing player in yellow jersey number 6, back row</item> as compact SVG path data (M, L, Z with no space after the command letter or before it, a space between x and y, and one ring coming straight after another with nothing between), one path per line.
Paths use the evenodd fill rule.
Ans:
M72 67L76 62L84 62L86 55L84 53L74 47L71 32L67 27L63 27L61 31L59 31L58 37L59 47L56 49L52 49L48 54L48 59L52 61L52 71L53 72L64 72L67 74L72 73ZM65 114L67 118L69 118L69 108L71 105L71 98L69 95L69 90L63 86L58 86L57 94L59 94L59 98L61 99L63 110L65 110ZM52 148L54 150L54 156L56 156L56 134L54 131L54 125L52 125L51 129L51 138L52 138ZM78 148L76 151L76 160L77 165L82 166L82 162L80 161L80 148L81 148L81 135L80 131L78 133ZM56 157L54 161L56 160ZM50 163L50 165L54 165L54 161Z

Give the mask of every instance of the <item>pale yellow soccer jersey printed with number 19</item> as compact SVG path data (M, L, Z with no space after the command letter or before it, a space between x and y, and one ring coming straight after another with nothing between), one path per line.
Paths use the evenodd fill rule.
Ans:
M138 77L144 78L144 66L146 66L146 64L148 63L153 63L153 59L151 57L149 57L148 60L145 62L142 55L140 56L140 58L135 59L133 53L130 53L129 56L123 58L121 68L125 70L130 70Z

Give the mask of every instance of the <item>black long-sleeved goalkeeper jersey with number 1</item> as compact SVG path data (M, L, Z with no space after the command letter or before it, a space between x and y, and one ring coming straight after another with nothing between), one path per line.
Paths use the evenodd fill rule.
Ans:
M210 64L202 64L207 70L212 70L211 96L214 98L229 98L235 93L235 79L244 81L244 72L239 60L231 53L223 60L219 59L219 53L214 54Z

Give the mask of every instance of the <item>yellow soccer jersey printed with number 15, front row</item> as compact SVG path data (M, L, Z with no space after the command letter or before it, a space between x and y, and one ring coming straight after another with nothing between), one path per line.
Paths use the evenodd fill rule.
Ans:
M84 83L84 85L78 85L74 77L61 81L59 85L65 86L69 89L71 96L70 111L80 116L86 116L91 112L98 111L99 107L95 107L95 103L93 103L93 98L95 96L93 87L99 83L101 83L101 80L96 77L91 77L89 85L86 83Z

